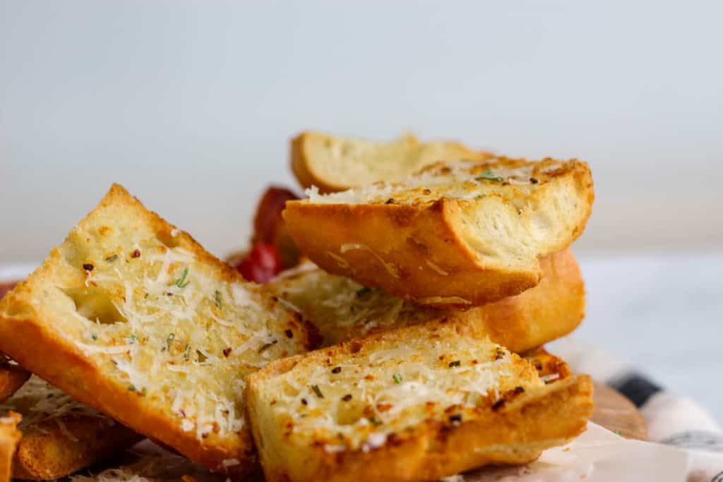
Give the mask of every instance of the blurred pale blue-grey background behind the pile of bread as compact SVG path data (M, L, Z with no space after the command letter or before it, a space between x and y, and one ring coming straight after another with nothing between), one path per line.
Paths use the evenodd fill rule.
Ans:
M668 4L669 3L669 4ZM0 264L114 181L215 254L302 129L589 161L575 337L723 421L723 4L0 1Z

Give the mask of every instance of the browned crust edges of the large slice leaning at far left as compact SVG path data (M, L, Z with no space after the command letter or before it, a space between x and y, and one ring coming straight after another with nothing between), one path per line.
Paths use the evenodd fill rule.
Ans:
M114 185L100 205L126 206L128 212L137 216L138 223L148 223L158 236L173 239L174 244L194 254L195 259L217 270L218 276L227 283L242 281L239 273L219 261L197 244L183 231L176 230L160 216L145 210L137 199L119 185ZM95 212L94 210L94 212ZM113 223L113 220L106 220ZM133 228L131 228L133 229ZM72 338L54 328L52 314L43 311L36 300L39 296L51 296L51 289L62 286L64 280L72 280L73 285L82 283L82 275L71 269L60 249L54 248L33 275L5 296L0 302L0 348L9 356L51 384L89 405L108 414L125 426L129 426L153 439L168 444L195 462L206 465L211 470L221 471L231 478L242 478L256 460L252 447L251 434L247 429L240 431L237 437L222 438L211 432L200 439L193 431L184 431L176 420L172 420L157 407L147 401L138 392L129 392L126 386L110 379L101 369L95 358L82 353ZM80 281L77 277L81 277ZM67 281L71 284L71 281ZM275 301L267 300L265 309L278 310ZM309 348L309 331L298 317L289 323L294 330L295 340ZM38 356L42 353L42 356ZM224 464L224 460L234 460L234 465Z

